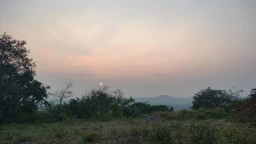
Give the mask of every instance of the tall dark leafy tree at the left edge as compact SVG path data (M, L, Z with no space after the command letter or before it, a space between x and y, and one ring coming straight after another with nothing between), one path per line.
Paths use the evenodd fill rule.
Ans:
M0 114L6 122L37 109L50 88L34 79L36 65L25 45L6 33L0 36Z

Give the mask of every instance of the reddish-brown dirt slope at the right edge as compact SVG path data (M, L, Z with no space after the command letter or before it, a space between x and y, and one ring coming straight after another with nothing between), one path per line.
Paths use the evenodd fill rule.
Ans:
M231 110L231 113L246 122L256 122L256 97L248 99L243 105Z

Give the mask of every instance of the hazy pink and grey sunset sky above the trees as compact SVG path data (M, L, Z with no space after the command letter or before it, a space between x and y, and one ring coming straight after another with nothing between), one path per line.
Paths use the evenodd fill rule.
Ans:
M0 0L0 34L27 41L36 79L75 96L192 97L256 88L255 0Z

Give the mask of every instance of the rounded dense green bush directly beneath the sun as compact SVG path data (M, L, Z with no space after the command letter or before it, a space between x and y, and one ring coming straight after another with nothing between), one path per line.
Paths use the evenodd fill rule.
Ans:
M108 89L109 86L92 89L82 98L71 99L65 107L77 118L90 119L93 117L95 119L98 117L104 121L128 113L130 104L134 102L134 99L132 97L126 99L120 89L112 92ZM104 114L107 119L102 117Z

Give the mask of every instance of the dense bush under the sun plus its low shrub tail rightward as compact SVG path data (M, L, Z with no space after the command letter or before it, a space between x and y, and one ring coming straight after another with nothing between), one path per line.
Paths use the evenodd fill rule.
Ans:
M108 88L103 86L92 89L82 98L71 99L64 107L70 110L73 116L85 119L137 117L139 114L173 110L166 105L151 106L147 102L135 102L132 97L126 99L120 89L110 92Z

